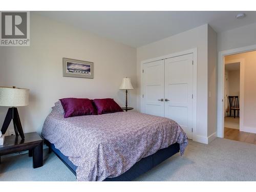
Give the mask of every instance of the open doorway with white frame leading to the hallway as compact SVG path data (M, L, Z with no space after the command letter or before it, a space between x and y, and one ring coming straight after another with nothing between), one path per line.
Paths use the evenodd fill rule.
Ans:
M254 50L256 45L219 52L218 137L256 144Z

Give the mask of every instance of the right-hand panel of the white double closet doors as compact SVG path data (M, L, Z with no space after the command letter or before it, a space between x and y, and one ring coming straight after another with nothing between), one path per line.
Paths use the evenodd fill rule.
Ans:
M165 59L164 116L175 120L192 139L193 54Z

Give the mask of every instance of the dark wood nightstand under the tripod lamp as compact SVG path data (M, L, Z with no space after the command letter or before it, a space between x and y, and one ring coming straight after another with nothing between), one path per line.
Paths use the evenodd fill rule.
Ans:
M16 135L5 136L4 145L0 145L0 163L2 155L29 150L29 157L33 156L33 168L42 166L42 138L36 132L24 136L24 140Z

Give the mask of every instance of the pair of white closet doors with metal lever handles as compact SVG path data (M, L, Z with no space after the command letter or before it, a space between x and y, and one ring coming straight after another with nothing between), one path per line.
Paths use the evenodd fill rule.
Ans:
M175 120L192 139L193 54L143 64L142 112Z

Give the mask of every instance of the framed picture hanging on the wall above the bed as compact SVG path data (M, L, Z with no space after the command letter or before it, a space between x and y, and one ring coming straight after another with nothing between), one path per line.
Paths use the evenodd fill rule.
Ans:
M93 78L93 62L63 58L63 77Z

